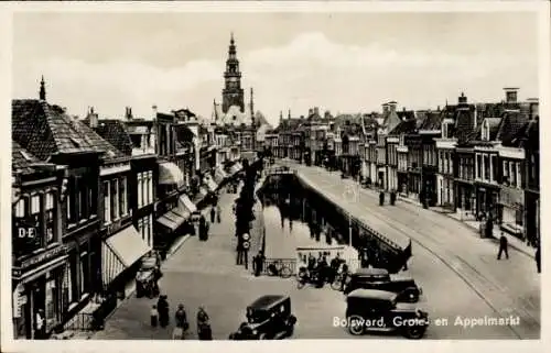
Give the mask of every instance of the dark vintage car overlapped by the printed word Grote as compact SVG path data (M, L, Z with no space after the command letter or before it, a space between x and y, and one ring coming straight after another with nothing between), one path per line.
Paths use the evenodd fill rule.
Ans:
M396 293L356 289L346 297L348 332L400 332L412 340L422 339L429 327L429 315L415 304L400 302Z

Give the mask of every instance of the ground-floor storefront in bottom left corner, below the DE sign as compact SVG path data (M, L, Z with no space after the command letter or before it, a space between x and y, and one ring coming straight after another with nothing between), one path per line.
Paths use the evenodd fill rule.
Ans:
M36 338L36 316L44 312L47 335L63 321L63 279L67 250L60 245L12 267L14 339Z

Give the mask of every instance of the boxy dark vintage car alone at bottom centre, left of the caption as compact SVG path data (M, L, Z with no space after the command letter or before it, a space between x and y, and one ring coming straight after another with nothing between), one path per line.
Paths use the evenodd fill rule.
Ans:
M247 307L247 322L242 322L230 340L279 340L291 337L296 317L291 313L291 298L268 295Z

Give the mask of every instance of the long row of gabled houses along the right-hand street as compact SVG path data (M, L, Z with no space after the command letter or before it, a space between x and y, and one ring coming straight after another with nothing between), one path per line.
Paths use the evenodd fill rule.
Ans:
M337 114L317 108L266 134L280 158L339 169L366 186L397 191L464 220L493 217L501 230L534 245L540 233L538 99L505 88L495 103L464 93L435 110L397 109Z

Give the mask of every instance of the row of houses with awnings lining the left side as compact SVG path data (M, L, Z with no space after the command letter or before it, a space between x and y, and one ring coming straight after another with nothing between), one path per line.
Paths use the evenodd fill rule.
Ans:
M241 169L249 130L192 111L79 119L40 99L12 101L14 338L46 333L133 278L140 258L192 233L197 209Z

